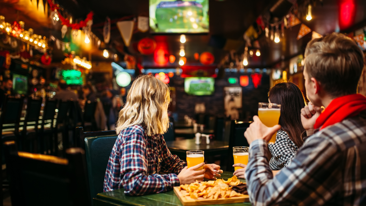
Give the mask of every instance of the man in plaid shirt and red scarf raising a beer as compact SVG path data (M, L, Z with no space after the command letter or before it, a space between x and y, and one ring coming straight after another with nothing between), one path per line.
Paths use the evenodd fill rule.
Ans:
M254 116L244 133L253 205L366 205L366 97L357 94L363 59L343 34L309 42L303 74L311 102L299 114L306 132L295 158L273 177L267 142L281 126Z

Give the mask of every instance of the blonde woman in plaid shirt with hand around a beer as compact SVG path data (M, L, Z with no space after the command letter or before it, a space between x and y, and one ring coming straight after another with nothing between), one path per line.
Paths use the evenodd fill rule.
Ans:
M160 193L196 179L220 177L219 165L201 163L187 169L186 162L170 153L162 135L169 125L169 102L169 88L161 80L145 75L132 83L119 112L119 135L105 172L104 192L124 188L126 195Z

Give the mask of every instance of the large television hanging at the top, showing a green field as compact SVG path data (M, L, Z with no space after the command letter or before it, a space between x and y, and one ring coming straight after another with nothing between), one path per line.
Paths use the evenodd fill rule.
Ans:
M209 32L209 0L149 0L152 33Z

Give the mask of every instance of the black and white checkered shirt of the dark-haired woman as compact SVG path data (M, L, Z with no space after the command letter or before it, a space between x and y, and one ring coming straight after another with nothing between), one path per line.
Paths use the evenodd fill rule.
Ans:
M272 158L269 161L271 170L280 170L290 163L298 151L298 147L288 137L287 132L279 130L276 135L275 144L268 144Z

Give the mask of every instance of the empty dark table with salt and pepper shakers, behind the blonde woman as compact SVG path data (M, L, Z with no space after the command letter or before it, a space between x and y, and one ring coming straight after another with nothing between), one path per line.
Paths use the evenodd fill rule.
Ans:
M201 143L199 145L194 143L194 139L167 141L166 143L170 152L181 159L186 159L186 151L189 150L202 150L205 151L205 157L210 157L226 154L229 149L228 142L216 140L211 141L210 144Z

